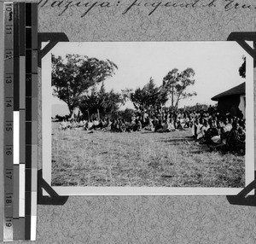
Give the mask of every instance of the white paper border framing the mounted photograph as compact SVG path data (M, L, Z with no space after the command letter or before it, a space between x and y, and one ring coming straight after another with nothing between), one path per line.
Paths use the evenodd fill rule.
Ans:
M142 42L140 42L142 43ZM189 43L189 42L185 42ZM201 42L193 42L201 43ZM206 42L202 42L206 43ZM209 43L209 42L207 42ZM224 42L212 42L224 43ZM226 43L226 42L225 42ZM236 42L229 42L236 43ZM59 43L61 44L61 43ZM72 43L71 43L72 44ZM237 43L236 43L237 44ZM239 44L237 44L239 45ZM43 43L44 46L44 43ZM241 48L242 49L242 48ZM245 187L254 180L253 57L244 50L246 62L246 158ZM51 55L42 59L42 162L43 178L51 186ZM201 187L77 187L51 186L58 195L237 195L243 188ZM253 191L249 194L253 194Z

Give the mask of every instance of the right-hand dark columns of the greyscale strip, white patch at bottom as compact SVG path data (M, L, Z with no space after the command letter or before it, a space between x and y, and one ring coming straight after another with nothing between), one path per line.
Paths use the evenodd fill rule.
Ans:
M26 107L29 107L29 113L26 113L27 121L27 143L30 147L31 158L26 162L26 182L27 193L27 221L31 228L26 229L26 238L36 239L36 216L37 216L37 162L38 162L38 5L37 3L26 3L26 75L30 78L30 94L26 96Z

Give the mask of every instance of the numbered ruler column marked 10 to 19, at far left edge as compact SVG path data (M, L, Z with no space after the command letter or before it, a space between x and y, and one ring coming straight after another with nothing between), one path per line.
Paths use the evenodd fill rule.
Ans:
M4 219L3 241L13 240L14 216L14 143L13 143L13 108L14 108L14 5L3 4L4 13Z

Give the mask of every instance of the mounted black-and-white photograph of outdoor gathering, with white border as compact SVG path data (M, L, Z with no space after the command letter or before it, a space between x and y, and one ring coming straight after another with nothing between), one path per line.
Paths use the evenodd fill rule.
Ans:
M235 42L59 43L42 87L55 189L225 194L253 180L253 63Z

